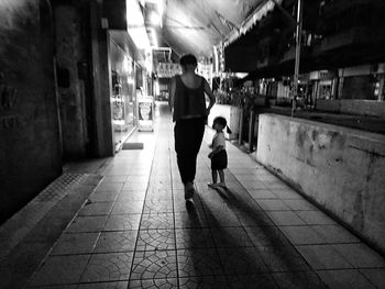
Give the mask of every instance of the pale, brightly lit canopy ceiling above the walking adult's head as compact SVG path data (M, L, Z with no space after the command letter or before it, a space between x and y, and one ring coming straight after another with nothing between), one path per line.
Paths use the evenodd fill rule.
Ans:
M164 0L162 46L178 56L210 57L212 46L234 31L267 0Z

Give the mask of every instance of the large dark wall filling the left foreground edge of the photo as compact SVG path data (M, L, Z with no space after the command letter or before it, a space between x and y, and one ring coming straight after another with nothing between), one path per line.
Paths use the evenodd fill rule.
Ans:
M0 222L62 173L52 11L0 1Z

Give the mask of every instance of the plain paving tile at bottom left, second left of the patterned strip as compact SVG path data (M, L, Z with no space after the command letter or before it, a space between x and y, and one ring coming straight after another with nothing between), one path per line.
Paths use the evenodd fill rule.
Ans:
M77 284L89 255L48 256L29 281L30 286Z

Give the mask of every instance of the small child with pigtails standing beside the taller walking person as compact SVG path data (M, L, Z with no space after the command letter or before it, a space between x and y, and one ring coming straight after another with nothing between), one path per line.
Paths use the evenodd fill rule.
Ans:
M218 187L226 188L223 169L228 167L228 154L226 152L224 127L231 133L226 119L217 116L212 123L212 129L215 129L217 133L212 137L212 143L209 146L212 149L209 154L209 158L211 159L212 184L208 184L208 186L213 189ZM220 182L217 184L218 175Z

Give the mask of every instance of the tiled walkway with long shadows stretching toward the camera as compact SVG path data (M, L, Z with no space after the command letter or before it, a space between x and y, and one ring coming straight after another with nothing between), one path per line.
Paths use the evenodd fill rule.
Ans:
M44 215L0 227L1 288L385 288L384 258L230 143L228 189L209 189L210 129L186 207L158 109L143 149L69 166Z

